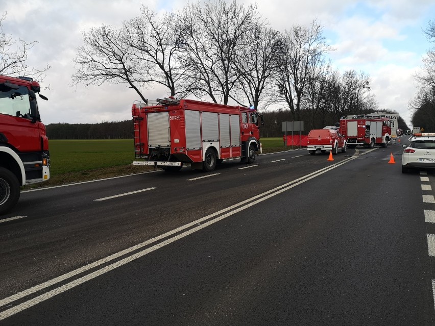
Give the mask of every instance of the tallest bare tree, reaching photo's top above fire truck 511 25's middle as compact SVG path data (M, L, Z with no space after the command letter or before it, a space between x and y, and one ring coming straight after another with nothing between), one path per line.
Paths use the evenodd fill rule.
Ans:
M184 7L180 21L186 32L181 63L186 67L186 88L198 97L208 95L214 103L228 104L240 76L233 67L243 35L255 28L256 6L245 8L235 0L200 3Z

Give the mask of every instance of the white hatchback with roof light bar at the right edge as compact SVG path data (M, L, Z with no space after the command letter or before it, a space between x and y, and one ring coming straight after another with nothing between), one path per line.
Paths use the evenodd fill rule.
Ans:
M403 147L402 173L410 168L435 168L435 133L414 134Z

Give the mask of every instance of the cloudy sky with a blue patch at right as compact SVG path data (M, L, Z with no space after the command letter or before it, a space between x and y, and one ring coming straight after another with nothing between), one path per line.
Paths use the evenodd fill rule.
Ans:
M0 14L8 13L3 31L14 39L38 41L29 52L30 66L51 69L39 101L45 124L95 123L131 118L131 105L138 95L124 84L100 87L71 86L72 59L83 45L82 32L102 23L119 27L140 13L142 3L155 11L182 8L186 1L151 0L1 0ZM255 1L239 0L253 4ZM408 102L416 93L413 74L432 45L422 30L435 19L433 0L261 0L258 12L271 27L282 30L293 24L309 26L315 18L335 51L329 56L341 72L364 71L370 76L371 92L380 109L392 109L410 127ZM147 98L167 96L163 89L142 90Z

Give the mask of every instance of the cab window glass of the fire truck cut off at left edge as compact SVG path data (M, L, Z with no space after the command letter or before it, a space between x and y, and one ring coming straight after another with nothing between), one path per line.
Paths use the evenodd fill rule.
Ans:
M31 118L29 89L24 86L18 89L0 88L0 114Z

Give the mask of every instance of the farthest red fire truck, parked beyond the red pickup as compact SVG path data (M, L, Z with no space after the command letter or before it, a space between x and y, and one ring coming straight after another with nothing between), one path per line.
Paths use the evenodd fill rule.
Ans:
M376 144L386 147L391 140L394 121L375 116L353 116L340 119L340 133L345 135L349 148L364 145L373 148Z

